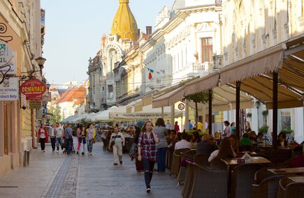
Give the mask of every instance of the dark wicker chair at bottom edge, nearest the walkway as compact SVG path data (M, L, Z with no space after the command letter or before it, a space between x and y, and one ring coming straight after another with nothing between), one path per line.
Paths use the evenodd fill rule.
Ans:
M226 169L201 167L194 163L194 178L189 197L227 197Z

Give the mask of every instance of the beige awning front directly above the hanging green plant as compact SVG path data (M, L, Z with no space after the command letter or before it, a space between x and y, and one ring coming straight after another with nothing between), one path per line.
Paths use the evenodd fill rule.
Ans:
M219 84L219 73L211 73L207 76L200 77L194 81L188 82L184 89L184 95L188 96L193 93L200 93L202 91L212 89Z

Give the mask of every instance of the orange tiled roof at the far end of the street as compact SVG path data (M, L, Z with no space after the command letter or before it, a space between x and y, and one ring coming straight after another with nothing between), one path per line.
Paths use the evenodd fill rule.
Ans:
M80 105L85 102L85 95L87 90L84 86L73 87L62 93L61 97L55 101L55 105L61 102L73 102L75 100L75 105Z

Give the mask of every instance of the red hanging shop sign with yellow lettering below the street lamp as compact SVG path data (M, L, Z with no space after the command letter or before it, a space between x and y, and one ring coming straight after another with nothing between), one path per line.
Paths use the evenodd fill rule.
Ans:
M20 91L27 97L27 100L42 100L46 89L45 84L38 79L28 79L20 86Z

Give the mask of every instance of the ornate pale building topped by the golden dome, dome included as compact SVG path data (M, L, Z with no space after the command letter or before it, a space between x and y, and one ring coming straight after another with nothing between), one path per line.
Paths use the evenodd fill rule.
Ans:
M89 61L89 112L116 105L117 89L113 70L137 38L137 23L129 8L129 0L119 0L111 33L102 36L100 52Z

